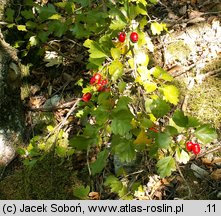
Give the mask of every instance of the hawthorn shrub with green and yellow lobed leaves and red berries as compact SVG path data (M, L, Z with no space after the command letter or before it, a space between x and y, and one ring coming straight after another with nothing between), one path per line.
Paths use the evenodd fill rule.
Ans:
M35 136L19 153L31 167L51 147L60 157L97 147L96 160L88 165L89 174L95 176L103 172L110 156L129 164L145 152L157 161L156 172L161 177L170 176L176 164L189 161L192 152L187 142L197 141L197 155L200 146L203 149L217 138L216 131L185 115L179 109L173 77L157 65L149 66L149 53L154 49L150 36L167 31L165 24L148 16L157 0L96 2L66 0L39 5L26 0L19 15L7 10L9 33L12 29L23 33L22 41L14 44L26 47L24 55L31 47L41 50L53 38L84 40L91 76L90 82L78 83L82 100L75 117L82 130L69 137L62 129L56 134L57 130L48 126L49 135ZM129 198L127 185L118 178L122 174L106 176L104 185Z

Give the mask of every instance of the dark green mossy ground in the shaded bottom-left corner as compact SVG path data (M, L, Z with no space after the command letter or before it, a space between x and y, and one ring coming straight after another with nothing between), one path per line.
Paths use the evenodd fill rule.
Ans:
M71 161L50 155L31 169L17 169L0 182L1 199L74 199L72 188L82 182Z

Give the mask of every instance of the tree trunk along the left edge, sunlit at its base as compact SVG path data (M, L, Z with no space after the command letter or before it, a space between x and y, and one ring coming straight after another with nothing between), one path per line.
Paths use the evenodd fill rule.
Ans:
M9 2L0 0L0 20L4 20L4 10ZM0 32L0 166L14 158L24 131L18 68L16 51L4 41Z

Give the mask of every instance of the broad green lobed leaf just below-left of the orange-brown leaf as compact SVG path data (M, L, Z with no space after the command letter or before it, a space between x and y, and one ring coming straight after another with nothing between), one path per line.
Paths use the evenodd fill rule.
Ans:
M132 140L114 136L111 141L111 147L121 162L131 162L136 157L135 146Z

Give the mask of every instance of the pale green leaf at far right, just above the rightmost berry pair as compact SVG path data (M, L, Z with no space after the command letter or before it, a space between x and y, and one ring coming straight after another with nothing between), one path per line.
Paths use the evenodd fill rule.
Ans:
M217 133L210 125L202 125L194 132L195 136L204 144L210 143L217 139Z

